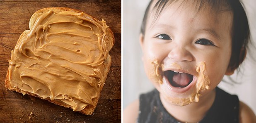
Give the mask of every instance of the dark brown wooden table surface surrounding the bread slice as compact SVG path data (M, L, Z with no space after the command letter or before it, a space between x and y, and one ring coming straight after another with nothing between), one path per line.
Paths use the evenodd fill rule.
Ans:
M83 115L46 100L6 90L11 50L29 19L44 7L70 7L104 20L115 36L111 69L93 115ZM0 0L0 123L121 122L121 0Z

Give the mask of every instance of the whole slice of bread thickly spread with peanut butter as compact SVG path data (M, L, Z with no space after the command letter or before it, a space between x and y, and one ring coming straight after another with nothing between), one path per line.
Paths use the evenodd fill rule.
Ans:
M12 50L5 86L92 114L111 66L114 34L80 10L51 7L35 12Z

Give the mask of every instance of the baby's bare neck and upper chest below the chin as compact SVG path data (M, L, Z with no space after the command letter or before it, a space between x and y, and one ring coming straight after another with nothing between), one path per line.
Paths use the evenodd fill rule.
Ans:
M193 102L186 106L176 106L167 102L164 97L160 94L161 102L164 108L174 116L177 120L184 123L198 123L203 119L207 111L213 105L215 99L215 89L208 93L208 95L203 95L200 97L199 102Z

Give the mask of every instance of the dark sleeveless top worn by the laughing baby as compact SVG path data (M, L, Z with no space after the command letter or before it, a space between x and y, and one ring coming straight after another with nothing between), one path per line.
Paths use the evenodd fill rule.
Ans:
M216 88L213 105L199 123L238 123L239 99L237 95ZM179 123L171 116L160 101L159 92L155 89L140 95L138 123Z

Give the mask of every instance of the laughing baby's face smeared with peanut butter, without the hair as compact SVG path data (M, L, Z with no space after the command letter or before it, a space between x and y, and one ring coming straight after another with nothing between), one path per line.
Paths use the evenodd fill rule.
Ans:
M177 105L197 102L213 91L231 57L232 12L214 13L207 7L197 12L193 5L174 2L156 21L149 15L141 38L148 78L164 99Z

